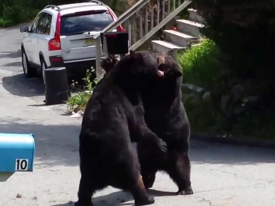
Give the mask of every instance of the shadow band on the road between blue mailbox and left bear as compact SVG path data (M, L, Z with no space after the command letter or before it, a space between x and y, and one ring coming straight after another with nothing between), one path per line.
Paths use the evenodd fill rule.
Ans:
M32 133L36 147L35 166L43 165L46 168L55 165L79 165L78 137L81 123L45 125L35 122L27 123L27 121L21 118L6 120L0 123L0 131L1 133Z

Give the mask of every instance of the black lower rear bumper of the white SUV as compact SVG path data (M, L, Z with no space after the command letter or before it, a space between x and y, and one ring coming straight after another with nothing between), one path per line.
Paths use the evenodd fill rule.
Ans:
M101 57L101 59L103 58L105 58L105 56ZM48 66L48 68L66 67L68 75L72 76L77 73L85 73L86 70L92 66L95 68L95 59L96 58L64 61L60 56L51 56L50 66Z

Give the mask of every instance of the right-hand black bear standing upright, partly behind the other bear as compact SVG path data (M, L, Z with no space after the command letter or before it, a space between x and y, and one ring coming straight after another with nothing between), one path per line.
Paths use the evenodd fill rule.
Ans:
M182 103L182 73L173 51L167 55L140 52L147 61L157 61L165 78L151 81L142 101L147 126L168 146L166 159L160 159L146 143L138 143L141 175L146 188L151 188L158 170L166 171L179 190L176 194L193 194L190 181L191 165L188 157L190 124ZM109 64L109 68L112 64Z

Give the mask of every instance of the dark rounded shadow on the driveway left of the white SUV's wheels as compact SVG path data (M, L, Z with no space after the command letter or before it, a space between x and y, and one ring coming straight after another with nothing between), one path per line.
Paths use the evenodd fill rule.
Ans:
M17 74L2 78L4 89L12 95L21 97L43 96L45 86L40 78L26 79L24 74Z

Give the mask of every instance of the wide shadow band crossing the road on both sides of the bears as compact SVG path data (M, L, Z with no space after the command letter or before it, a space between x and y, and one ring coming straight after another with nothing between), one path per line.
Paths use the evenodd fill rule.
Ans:
M58 125L27 121L12 119L2 122L0 131L2 133L33 133L36 142L36 161L43 165L79 165L78 137L81 121L75 123L72 120L71 124L60 123ZM195 164L256 165L275 163L275 151L272 149L213 145L194 140L191 140L189 157Z

